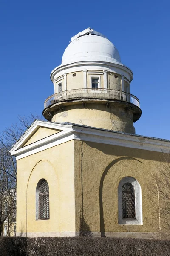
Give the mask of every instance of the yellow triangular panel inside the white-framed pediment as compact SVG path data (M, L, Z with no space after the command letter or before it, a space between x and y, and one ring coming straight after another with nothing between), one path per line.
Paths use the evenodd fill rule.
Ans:
M21 146L20 148L30 145L38 140L42 140L48 136L51 136L53 134L57 134L62 130L56 130L52 128L47 127L38 127L37 130L31 135L31 137L28 138Z

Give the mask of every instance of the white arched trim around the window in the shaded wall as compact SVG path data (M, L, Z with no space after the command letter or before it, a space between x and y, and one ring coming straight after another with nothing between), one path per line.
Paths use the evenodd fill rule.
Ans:
M135 219L125 219L122 217L122 186L131 183L135 190ZM118 186L118 224L142 225L142 191L141 186L133 177L124 177Z

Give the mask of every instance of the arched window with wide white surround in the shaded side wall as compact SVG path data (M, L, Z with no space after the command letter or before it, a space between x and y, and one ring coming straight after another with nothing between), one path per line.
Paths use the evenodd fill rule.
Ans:
M119 182L118 224L143 224L141 186L133 177L124 177Z

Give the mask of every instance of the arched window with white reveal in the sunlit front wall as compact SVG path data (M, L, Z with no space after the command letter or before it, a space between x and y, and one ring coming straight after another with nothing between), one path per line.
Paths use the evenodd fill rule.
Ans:
M45 179L37 184L36 189L36 219L44 220L50 218L49 211L49 186Z

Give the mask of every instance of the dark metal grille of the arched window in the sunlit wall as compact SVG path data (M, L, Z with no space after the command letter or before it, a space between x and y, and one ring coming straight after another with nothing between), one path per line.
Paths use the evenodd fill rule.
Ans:
M38 219L49 219L49 186L46 180L43 180L39 187L39 214Z

